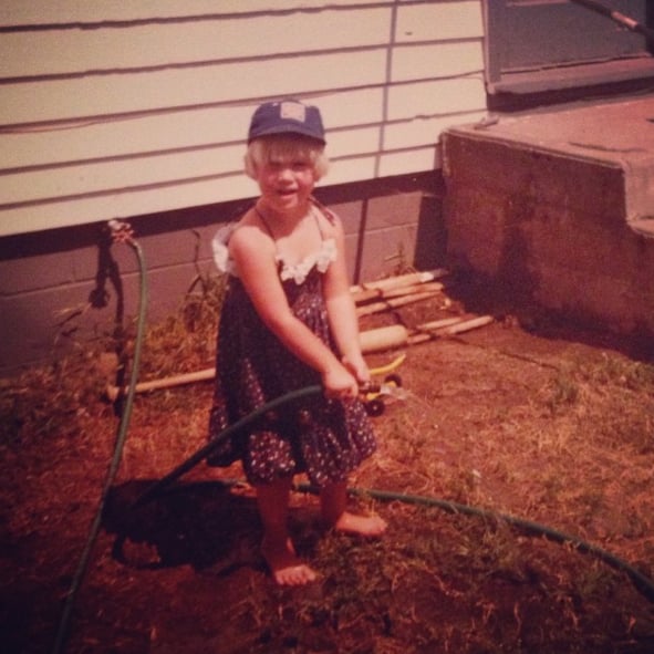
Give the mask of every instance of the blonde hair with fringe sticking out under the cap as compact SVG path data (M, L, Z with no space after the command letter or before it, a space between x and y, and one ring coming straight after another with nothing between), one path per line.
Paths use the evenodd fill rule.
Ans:
M270 162L309 162L316 180L326 175L330 166L324 145L315 138L279 134L255 138L246 152L246 173L257 178L257 170Z

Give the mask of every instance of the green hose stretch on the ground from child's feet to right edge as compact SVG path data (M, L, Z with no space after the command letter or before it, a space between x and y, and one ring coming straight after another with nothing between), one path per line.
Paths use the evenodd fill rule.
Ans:
M300 492L310 492L318 495L320 489L315 486L310 484L298 484L293 487L295 490ZM491 519L494 521L504 521L512 527L516 527L526 533L532 536L543 536L548 540L570 544L574 547L580 552L584 552L588 554L593 554L604 563L611 565L612 568L625 572L630 579L632 580L636 590L643 594L650 602L654 602L654 581L648 577L645 577L642 572L636 570L633 565L627 563L626 561L615 557L611 552L594 546L592 543L585 542L575 536L571 536L569 533L564 533L557 529L552 529L551 527L547 527L544 525L540 525L539 522L533 522L532 520L525 520L522 518L517 518L515 516L510 516L507 513L500 513L496 511L491 511L488 509L481 509L478 507L473 507L470 505L463 505L449 500L438 499L435 497L428 496L421 496L421 495L408 495L405 492L395 492L391 490L376 490L376 489L365 489L365 488L349 488L349 494L355 497L368 497L372 499L381 500L381 501L401 501L404 504L409 505L419 505L425 507L437 507L443 509L449 513L461 513L466 516L477 516L481 518Z

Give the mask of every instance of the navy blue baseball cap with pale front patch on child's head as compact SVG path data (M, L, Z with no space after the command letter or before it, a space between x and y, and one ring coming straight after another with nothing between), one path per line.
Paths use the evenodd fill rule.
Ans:
M320 110L298 100L267 102L257 107L250 122L248 143L272 134L300 134L326 143Z

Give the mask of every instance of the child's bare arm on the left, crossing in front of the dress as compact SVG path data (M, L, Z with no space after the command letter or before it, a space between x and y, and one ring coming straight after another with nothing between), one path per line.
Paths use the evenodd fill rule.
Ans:
M271 239L257 226L246 222L232 233L229 251L266 326L295 356L321 374L329 394L356 396L359 384L354 376L291 311L279 279Z

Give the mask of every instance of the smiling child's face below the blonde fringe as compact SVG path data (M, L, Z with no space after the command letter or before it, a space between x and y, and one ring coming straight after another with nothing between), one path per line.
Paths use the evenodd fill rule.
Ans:
M305 206L315 186L313 164L301 155L274 158L257 167L257 183L263 199L277 211L292 211Z

